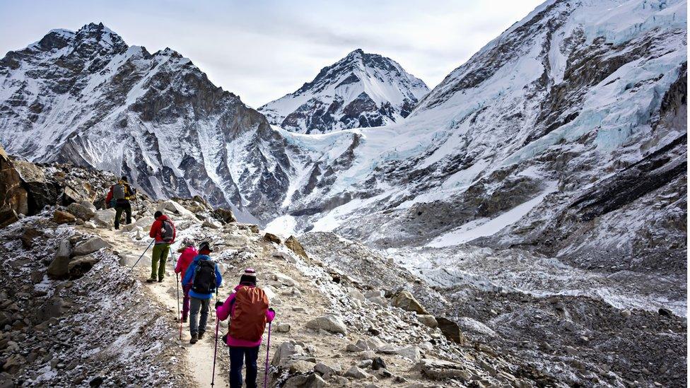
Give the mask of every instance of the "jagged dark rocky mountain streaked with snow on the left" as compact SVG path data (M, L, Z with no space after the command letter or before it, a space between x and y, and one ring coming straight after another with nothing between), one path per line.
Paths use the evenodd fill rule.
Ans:
M273 214L281 136L189 59L129 47L103 24L52 30L0 60L0 141L34 161L127 174L151 196L200 194Z

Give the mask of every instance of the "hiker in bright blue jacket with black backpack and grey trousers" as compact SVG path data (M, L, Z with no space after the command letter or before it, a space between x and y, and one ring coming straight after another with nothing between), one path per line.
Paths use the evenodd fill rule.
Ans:
M189 290L189 334L192 335L192 339L189 343L197 343L197 340L204 337L211 298L214 292L218 293L218 287L223 284L221 271L209 256L211 250L208 242L201 242L199 255L194 257L192 264L187 267L185 277L182 278L182 286L191 287ZM199 319L199 311L201 311L201 319Z

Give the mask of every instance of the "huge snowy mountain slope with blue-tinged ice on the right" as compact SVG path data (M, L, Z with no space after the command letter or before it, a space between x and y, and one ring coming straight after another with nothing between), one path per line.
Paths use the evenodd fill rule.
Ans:
M274 225L684 266L686 30L686 1L546 1L404 122L283 131L320 151Z

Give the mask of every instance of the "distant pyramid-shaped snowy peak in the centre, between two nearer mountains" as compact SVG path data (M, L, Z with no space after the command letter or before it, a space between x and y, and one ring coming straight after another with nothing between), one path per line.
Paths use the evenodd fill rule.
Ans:
M259 112L288 131L323 134L398 122L428 92L421 79L396 61L356 49Z

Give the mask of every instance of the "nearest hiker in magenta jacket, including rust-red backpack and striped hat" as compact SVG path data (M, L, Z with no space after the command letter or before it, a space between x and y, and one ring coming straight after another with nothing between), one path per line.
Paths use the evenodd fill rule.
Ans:
M276 312L269 308L269 298L257 287L254 269L246 269L225 302L216 302L216 315L221 321L230 317L228 334L223 340L230 347L230 387L242 387L242 363L247 361L247 387L257 386L257 358L266 324Z

